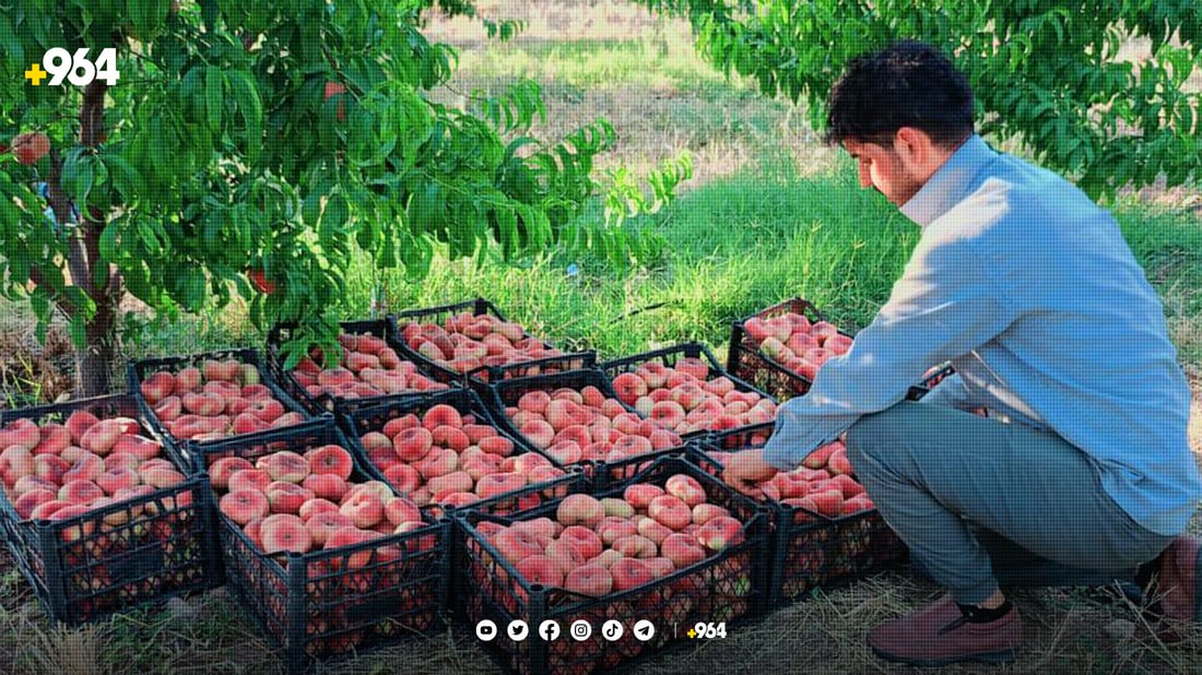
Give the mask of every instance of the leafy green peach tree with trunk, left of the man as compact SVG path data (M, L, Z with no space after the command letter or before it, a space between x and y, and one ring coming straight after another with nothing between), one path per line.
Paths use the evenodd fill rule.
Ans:
M624 216L670 198L686 159L644 197L594 178L614 143L603 120L529 136L534 83L438 103L456 52L423 37L423 13L475 7L436 4L0 0L0 289L42 335L65 318L77 394L109 389L120 338L147 317L236 298L260 329L302 328L292 358L310 340L337 348L358 257L417 280L436 251L656 245ZM52 49L76 59L67 79L25 79ZM599 197L607 217L582 219Z

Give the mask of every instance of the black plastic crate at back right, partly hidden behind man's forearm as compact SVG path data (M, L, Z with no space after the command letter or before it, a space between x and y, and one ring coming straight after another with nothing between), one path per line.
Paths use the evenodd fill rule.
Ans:
M810 378L793 372L783 364L768 358L760 351L758 346L750 338L748 338L743 324L752 317L772 318L789 312L803 315L811 322L827 321L826 315L819 311L813 303L802 298L792 298L775 304L757 313L744 317L731 325L731 342L726 359L727 370L733 376L755 384L760 389L776 396L780 401L786 401L793 396L801 396L808 393L814 382L810 381ZM839 334L853 338L852 334L844 330L839 330ZM910 388L906 394L906 399L911 401L922 399L922 396L924 396L932 387L938 384L951 372L953 372L951 366L944 366L932 375L928 375L923 378L921 384Z

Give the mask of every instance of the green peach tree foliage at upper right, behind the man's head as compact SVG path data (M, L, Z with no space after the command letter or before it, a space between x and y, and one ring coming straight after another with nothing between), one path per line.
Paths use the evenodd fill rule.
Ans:
M635 0L685 16L696 48L811 123L844 64L898 38L947 53L977 97L978 129L1019 138L1094 196L1202 178L1197 0ZM1135 62L1139 43L1150 58Z

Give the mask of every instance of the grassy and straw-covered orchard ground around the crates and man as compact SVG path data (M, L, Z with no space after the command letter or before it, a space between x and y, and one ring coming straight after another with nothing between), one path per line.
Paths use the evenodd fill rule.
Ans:
M647 2L644 2L645 5ZM703 5L698 2L697 5ZM599 118L613 126L613 147L594 173L615 185L645 177L688 153L692 178L677 198L624 227L650 235L632 264L603 251L548 245L502 264L486 247L475 259L433 250L419 283L403 271L355 258L343 305L351 317L400 311L476 295L493 300L532 333L557 344L620 356L683 340L724 353L730 322L776 300L802 295L841 325L870 321L900 273L917 231L895 209L855 181L851 162L823 147L809 126L810 108L763 95L751 77L727 78L697 54L690 23L653 16L615 0L476 4L482 14L525 22L508 41L478 20L434 18L432 42L459 53L458 71L432 92L462 106L477 91L499 95L522 77L542 88L545 120L531 131L564 138ZM1123 44L1118 60L1141 64L1146 40ZM1180 85L1202 90L1202 72ZM992 141L996 141L990 138ZM1005 149L1036 155L1013 141ZM1184 161L1184 160L1183 160ZM609 172L613 172L612 174ZM625 183L624 183L625 181ZM1164 180L1109 197L1129 243L1161 294L1171 336L1195 390L1191 441L1202 452L1202 192L1196 177ZM605 221L605 204L582 204ZM44 344L28 304L0 300L0 395L5 406L52 401L75 390L70 325L50 323ZM147 305L126 297L132 316ZM224 309L201 306L155 323L120 345L120 356L191 353L262 341L251 303L234 295ZM1195 531L1202 530L1195 522ZM167 608L135 611L83 629L49 628L24 579L0 551L0 670L12 673L273 671L279 668L251 622L218 590ZM769 615L726 640L660 657L641 673L783 671L887 668L863 643L875 622L928 599L936 589L887 574ZM1202 639L1172 650L1132 634L1137 615L1096 591L1019 592L1031 634L1022 658L1004 671L1190 671L1202 664ZM364 656L338 669L490 673L469 632L457 631ZM953 671L956 669L952 669ZM969 669L965 668L965 671ZM990 670L990 671L995 671Z

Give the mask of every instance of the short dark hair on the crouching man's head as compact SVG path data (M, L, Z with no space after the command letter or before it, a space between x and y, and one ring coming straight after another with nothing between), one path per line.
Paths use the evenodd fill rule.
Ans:
M914 40L856 56L827 96L827 143L891 148L903 126L924 131L945 148L972 133L968 79L938 49Z

